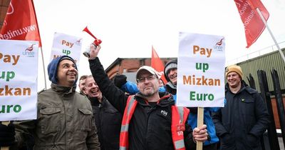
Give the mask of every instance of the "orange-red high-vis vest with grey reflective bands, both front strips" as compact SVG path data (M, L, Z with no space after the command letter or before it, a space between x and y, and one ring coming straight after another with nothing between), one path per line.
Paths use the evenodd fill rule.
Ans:
M130 125L130 119L133 116L135 111L135 106L137 106L138 101L135 100L135 96L129 96L127 101L127 106L125 106L122 126L120 129L120 150L128 150L129 142L128 142L128 129ZM189 114L189 109L185 107L177 107L171 106L171 114L172 114L172 121L171 121L171 131L172 131L172 142L175 146L176 150L183 150L185 149L184 144L184 136L183 131L177 131L177 126L184 125L187 121L187 116Z

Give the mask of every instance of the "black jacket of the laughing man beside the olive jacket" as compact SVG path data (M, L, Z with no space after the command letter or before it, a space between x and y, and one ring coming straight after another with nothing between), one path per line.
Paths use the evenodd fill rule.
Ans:
M101 150L117 150L120 143L122 114L103 96L102 103L90 98Z

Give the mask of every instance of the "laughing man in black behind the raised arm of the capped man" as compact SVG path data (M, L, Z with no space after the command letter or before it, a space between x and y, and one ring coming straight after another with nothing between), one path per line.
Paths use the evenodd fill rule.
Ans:
M86 77L86 94L95 116L100 148L103 150L119 149L122 114L102 95L92 75Z

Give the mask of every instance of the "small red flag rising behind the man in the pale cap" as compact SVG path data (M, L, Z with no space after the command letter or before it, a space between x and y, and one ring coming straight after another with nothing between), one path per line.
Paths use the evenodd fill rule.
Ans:
M157 55L155 49L152 46L152 59L151 59L151 66L156 71L160 72L162 74L161 79L163 83L167 83L165 76L163 76L163 70L165 69L165 65L162 63L160 57Z

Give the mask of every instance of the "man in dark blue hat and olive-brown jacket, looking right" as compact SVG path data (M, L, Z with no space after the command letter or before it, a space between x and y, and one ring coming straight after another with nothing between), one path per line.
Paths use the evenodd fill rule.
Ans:
M100 149L90 101L76 92L75 61L69 56L53 59L48 77L51 89L38 94L37 119L15 123L17 145L11 149L19 149L30 134L35 140L33 149ZM15 132L7 134L13 132L11 126L0 128L0 135L10 135L4 141L13 140Z

